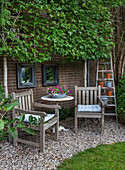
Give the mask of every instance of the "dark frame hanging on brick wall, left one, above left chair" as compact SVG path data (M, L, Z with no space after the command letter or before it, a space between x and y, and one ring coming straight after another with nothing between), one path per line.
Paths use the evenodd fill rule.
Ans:
M22 68L30 68L31 72L31 82L22 82ZM17 64L17 88L32 88L36 87L36 65L35 64Z

